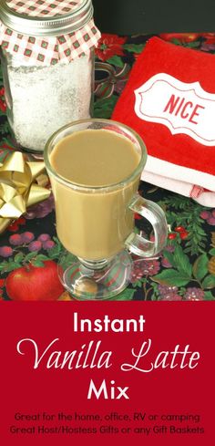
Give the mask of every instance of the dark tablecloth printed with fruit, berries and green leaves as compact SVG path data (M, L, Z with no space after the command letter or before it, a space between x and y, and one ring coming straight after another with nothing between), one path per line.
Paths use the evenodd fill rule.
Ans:
M96 74L95 117L110 118L126 85L129 70L148 37L102 36L97 48L100 70ZM215 53L215 34L169 35L166 38L176 45ZM0 135L0 162L3 162L15 148L5 115L2 75ZM139 193L148 200L158 202L165 210L169 224L168 243L155 258L133 259L130 285L113 300L214 300L215 209L205 208L189 198L146 182L140 183ZM138 215L135 221L138 232L150 231ZM45 202L29 208L5 233L0 234L0 300L29 299L29 286L34 284L32 280L29 285L31 281L28 279L26 285L29 265L34 269L34 274L38 274L38 269L40 272L37 275L35 298L52 300L54 297L48 292L51 285L48 280L52 280L52 275L47 275L44 266L49 265L54 271L61 250L62 246L56 237L54 201L50 196ZM47 261L49 264L46 264ZM16 277L17 273L19 275L19 282L15 282L15 273ZM16 284L19 284L19 292L14 294ZM60 287L58 295L55 298L62 301L72 299Z

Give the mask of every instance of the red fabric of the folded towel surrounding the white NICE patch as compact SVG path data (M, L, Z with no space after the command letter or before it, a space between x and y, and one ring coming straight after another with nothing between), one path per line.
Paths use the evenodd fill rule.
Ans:
M136 115L134 90L157 73L167 73L181 82L199 81L201 88L215 93L214 55L152 37L132 68L112 119L136 130L145 141L149 155L215 175L214 146L205 147L184 134L172 135L163 124L148 122Z

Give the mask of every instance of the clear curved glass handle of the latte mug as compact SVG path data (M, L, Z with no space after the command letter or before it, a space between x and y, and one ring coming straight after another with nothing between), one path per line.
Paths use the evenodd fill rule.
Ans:
M140 195L135 195L128 208L133 213L138 213L151 223L154 230L154 242L145 239L138 233L130 233L126 240L129 251L140 257L151 257L158 254L167 242L168 225L165 213L156 202L145 200Z

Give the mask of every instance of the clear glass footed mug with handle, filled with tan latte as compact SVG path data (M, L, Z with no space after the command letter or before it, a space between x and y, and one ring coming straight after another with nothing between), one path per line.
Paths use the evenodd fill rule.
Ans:
M80 150L86 150L79 161L75 160L76 154L72 152L72 145L75 149L77 144L73 138L78 135L82 138L82 142L79 141ZM107 142L103 143L101 137L107 139ZM90 140L91 146L98 147L97 153L101 158L101 146L107 144L107 158L108 150L112 150L110 160L104 158L103 162L106 163L103 174L106 176L107 173L104 184L102 181L89 184L85 179L81 182L77 182L77 178L73 179L73 165L76 164L77 173L79 170L81 174L84 161L87 163L87 171L92 169ZM68 150L71 150L69 160L68 156L61 155L65 141L68 141ZM127 149L132 152L132 162L136 160L132 171L129 171L129 159L127 166L126 157L126 161L121 153L121 158L117 157L118 147L122 144L127 144ZM103 161L97 161L97 158L94 152L95 178L100 174ZM44 159L56 204L56 233L65 247L58 263L61 282L78 300L103 300L117 296L129 283L132 272L129 252L141 257L154 256L167 240L168 227L162 209L138 194L140 175L147 161L143 140L134 130L117 121L82 119L52 135L46 143ZM69 175L62 174L62 162L63 169L71 171ZM108 174L111 177L113 168L116 174L121 171L121 164L125 164L125 169L129 171L125 178L117 182L108 180ZM134 213L139 213L151 224L153 241L134 232Z

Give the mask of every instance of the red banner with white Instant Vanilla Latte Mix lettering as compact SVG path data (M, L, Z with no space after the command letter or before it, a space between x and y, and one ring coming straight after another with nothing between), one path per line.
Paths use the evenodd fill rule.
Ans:
M1 303L3 445L214 441L214 303Z

